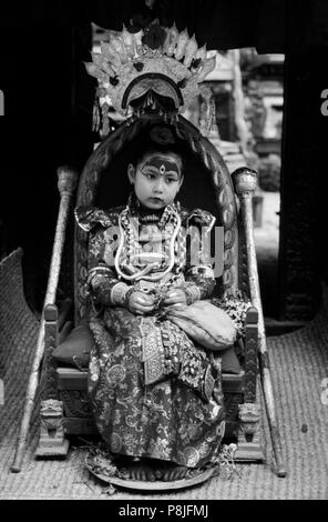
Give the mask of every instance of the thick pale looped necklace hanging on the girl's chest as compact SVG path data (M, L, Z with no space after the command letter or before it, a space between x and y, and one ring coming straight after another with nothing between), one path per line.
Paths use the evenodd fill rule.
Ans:
M173 233L170 240L168 264L163 272L154 273L154 274L150 274L150 272L158 268L157 262L150 263L144 269L137 270L134 273L126 273L126 271L125 272L123 271L124 265L129 268L127 260L131 259L132 250L137 244L137 240L135 238L135 228L133 227L131 222L131 208L130 208L130 201L129 201L127 205L125 207L125 209L121 212L119 217L120 244L119 244L117 252L115 255L115 269L116 269L117 275L127 281L137 281L139 279L145 279L147 281L158 281L166 273L171 272L174 267L175 240L181 229L181 218L176 209L176 205L173 203L173 204L168 204L167 207L165 207L165 210L161 219L156 214L148 214L148 215L150 215L150 220L146 222L151 222L151 218L153 219L155 217L157 220L157 227L161 231L163 231L166 225L172 224ZM139 225L139 221L140 221L139 218L133 215L133 219L136 220L136 224ZM131 267L130 267L130 272L131 272Z

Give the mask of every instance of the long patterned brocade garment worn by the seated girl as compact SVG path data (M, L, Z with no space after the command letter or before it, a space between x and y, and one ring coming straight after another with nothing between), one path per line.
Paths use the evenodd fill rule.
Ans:
M76 210L79 224L90 232L89 292L94 304L90 328L95 343L89 391L94 419L114 454L203 466L217 455L224 434L221 358L195 345L165 318L161 289L164 293L172 288L189 289L188 295L208 299L215 285L211 260L202 252L199 238L199 255L195 257L191 255L193 240L188 242L186 234L180 233L174 241L173 267L162 279L134 283L119 279L114 264L117 235L123 234L124 247L130 241L122 263L131 273L150 263L154 267L157 260L153 272L160 274L170 261L174 232L171 222L160 230L158 222L147 222L135 210L127 215L139 225L140 233L132 241L131 232L123 233L117 227L122 210ZM206 234L214 223L213 217L199 209L189 213L178 208L178 214L181 230L194 227ZM192 264L192 258L197 264ZM119 282L151 293L155 289L154 295L160 295L155 311L142 317L113 305L112 290Z

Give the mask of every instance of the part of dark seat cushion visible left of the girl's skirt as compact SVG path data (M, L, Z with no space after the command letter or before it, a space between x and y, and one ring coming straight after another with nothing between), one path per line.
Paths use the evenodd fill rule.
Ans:
M89 365L90 352L94 344L88 323L73 328L66 339L53 351L59 364L85 369Z

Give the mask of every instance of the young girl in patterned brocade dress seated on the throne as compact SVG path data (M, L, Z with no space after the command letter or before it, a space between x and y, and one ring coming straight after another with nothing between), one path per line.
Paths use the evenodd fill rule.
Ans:
M191 252L186 232L209 233L215 218L175 202L175 143L148 140L127 175L126 207L76 210L90 232L90 393L99 432L130 476L176 480L212 462L224 434L221 359L166 314L211 297L211 261Z

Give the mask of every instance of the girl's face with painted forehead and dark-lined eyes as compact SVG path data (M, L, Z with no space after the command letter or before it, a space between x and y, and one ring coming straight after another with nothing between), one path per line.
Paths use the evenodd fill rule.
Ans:
M173 152L151 152L135 168L130 164L127 175L140 203L161 210L173 203L182 185L182 161Z

